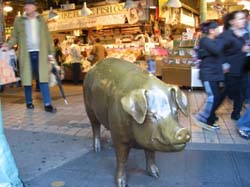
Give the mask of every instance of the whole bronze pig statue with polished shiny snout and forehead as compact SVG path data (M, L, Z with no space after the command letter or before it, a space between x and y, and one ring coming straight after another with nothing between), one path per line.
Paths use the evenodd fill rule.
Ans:
M178 109L188 115L184 93L130 62L108 58L95 65L84 79L84 101L96 152L100 125L111 132L116 187L126 186L130 148L144 149L147 172L159 177L155 151L181 151L191 138L178 122Z

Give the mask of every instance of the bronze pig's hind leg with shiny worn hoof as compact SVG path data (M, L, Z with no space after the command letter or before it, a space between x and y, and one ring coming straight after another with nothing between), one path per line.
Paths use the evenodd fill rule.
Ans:
M89 117L91 127L92 127L92 132L93 132L93 148L95 152L100 152L101 151L101 123L98 121L96 118L94 112L90 110L88 107L86 107L86 112Z

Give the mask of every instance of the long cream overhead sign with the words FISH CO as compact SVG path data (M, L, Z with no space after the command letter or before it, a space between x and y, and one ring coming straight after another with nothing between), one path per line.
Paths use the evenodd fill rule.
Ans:
M138 21L146 20L146 1L135 1L136 8L124 9L124 3L111 4L91 8L93 14L87 17L81 16L81 10L58 12L59 18L56 21L48 22L50 31L62 31L72 29L87 29L104 25L135 24ZM48 12L43 14L48 17Z

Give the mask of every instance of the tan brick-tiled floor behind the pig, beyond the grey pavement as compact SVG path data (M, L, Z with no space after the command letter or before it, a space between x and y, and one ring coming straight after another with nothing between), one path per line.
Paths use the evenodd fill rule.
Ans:
M60 96L59 89L53 87L52 99L58 108L56 114L44 112L40 93L34 92L35 110L29 111L25 108L23 88L7 88L0 94L2 101L2 113L4 127L7 129L22 129L38 132L55 132L60 134L91 137L92 132L86 115L82 87L64 84L65 93L69 104L66 105ZM202 107L206 95L202 90L184 90L189 101L189 117L180 114L180 123L191 130L193 143L205 144L244 144L250 145L250 141L239 137L235 130L235 122L230 119L232 105L225 100L219 108L218 124L220 130L210 132L196 126L191 115ZM109 132L103 129L103 135L109 137Z

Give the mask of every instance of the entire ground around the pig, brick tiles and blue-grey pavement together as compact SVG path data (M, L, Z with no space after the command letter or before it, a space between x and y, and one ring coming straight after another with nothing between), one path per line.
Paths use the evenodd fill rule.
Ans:
M34 92L34 111L25 108L23 88L7 88L0 94L6 136L22 179L29 187L113 186L115 156L109 132L102 129L103 152L93 153L82 87L65 84L64 89L69 105L58 88L52 88L56 114L44 112L40 93ZM227 109L221 110L221 116L229 115ZM157 154L160 179L145 175L144 154L133 150L128 163L130 186L250 186L250 141L221 118L227 130L213 133L182 116L181 121L189 121L192 141L183 152Z

